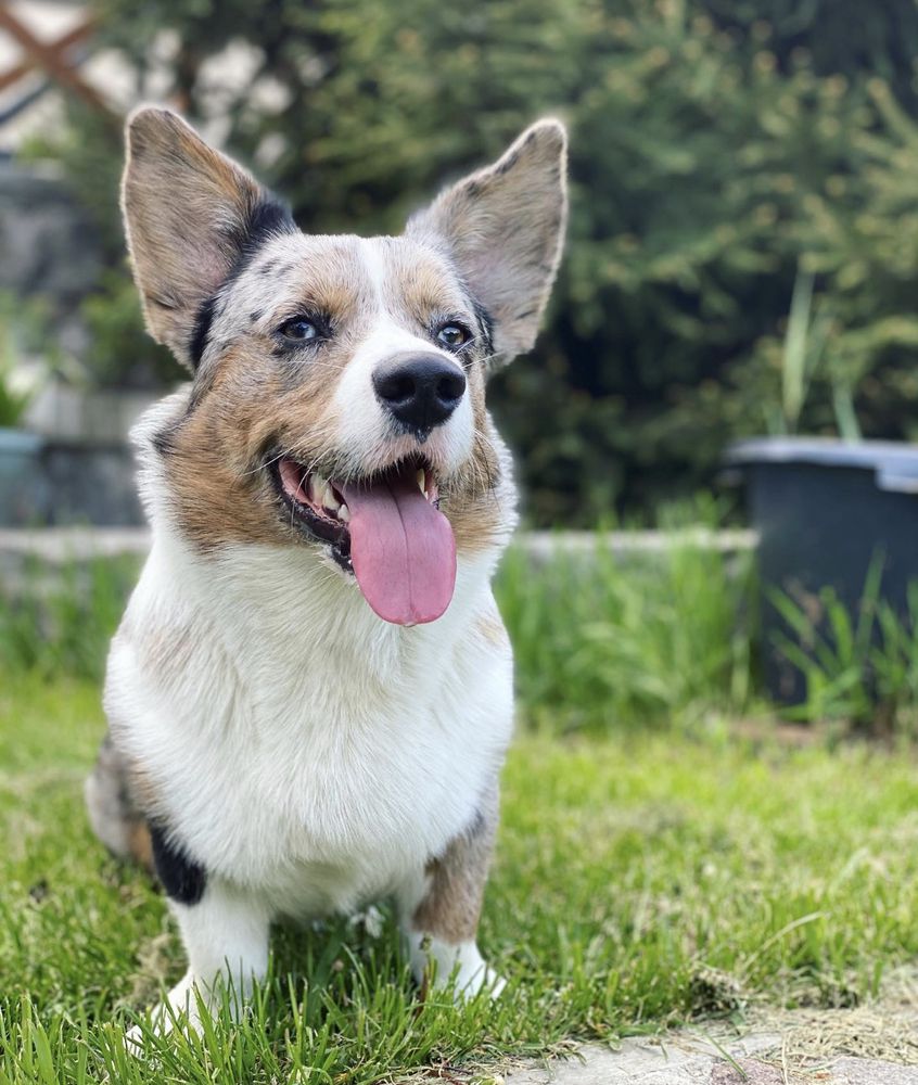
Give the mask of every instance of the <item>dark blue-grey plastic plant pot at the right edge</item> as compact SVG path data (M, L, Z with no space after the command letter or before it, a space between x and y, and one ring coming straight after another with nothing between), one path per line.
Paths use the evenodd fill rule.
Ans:
M774 437L732 445L726 460L740 472L758 534L766 686L778 703L800 704L804 674L778 647L799 638L775 592L827 634L821 590L831 588L856 620L876 559L879 598L907 615L908 584L918 579L918 445Z

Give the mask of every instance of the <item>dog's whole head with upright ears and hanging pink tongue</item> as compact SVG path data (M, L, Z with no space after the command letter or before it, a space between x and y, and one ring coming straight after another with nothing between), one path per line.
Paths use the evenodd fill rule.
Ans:
M559 123L534 125L399 238L307 235L175 114L133 115L135 278L193 374L154 455L197 545L318 547L381 617L443 613L457 546L493 544L512 516L485 379L535 340L564 144Z

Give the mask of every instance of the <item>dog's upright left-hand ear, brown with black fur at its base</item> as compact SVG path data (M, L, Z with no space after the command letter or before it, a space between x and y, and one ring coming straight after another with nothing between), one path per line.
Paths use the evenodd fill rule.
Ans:
M246 250L294 228L289 213L175 113L150 106L128 120L122 209L146 327L193 370L214 295Z

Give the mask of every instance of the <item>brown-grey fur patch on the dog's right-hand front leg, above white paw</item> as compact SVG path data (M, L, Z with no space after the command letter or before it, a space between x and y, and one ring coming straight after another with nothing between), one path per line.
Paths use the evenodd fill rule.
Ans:
M430 889L411 917L416 931L450 945L474 939L497 831L497 807L495 781L483 796L475 822L429 864Z

